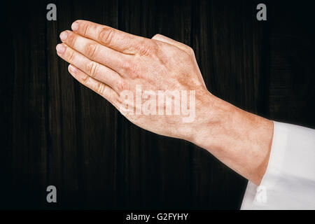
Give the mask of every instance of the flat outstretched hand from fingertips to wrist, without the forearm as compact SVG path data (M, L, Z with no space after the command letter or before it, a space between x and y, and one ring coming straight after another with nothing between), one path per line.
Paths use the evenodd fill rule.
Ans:
M57 54L71 64L74 78L101 94L135 125L192 141L199 118L209 113L202 111L203 104L211 97L192 48L159 34L143 38L81 20L72 29L60 35L63 44L57 45ZM139 90L141 104L136 102ZM164 100L158 100L159 92L165 93ZM128 93L133 96L126 100ZM187 105L180 104L183 94ZM183 106L190 106L186 115Z

